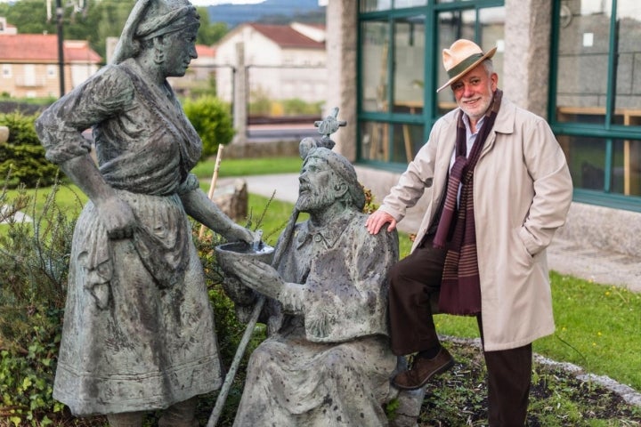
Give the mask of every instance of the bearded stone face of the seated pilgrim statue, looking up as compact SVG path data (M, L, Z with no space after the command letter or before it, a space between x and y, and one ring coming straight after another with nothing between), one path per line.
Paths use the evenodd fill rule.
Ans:
M308 158L298 177L298 200L300 212L320 211L335 202L333 171L320 157Z

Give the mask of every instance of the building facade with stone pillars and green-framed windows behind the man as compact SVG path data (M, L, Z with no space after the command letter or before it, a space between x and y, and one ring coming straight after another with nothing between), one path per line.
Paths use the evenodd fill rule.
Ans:
M327 13L328 106L350 124L337 146L378 201L455 106L435 89L442 49L465 37L498 47L499 87L564 149L575 191L559 234L641 255L637 0L329 0Z

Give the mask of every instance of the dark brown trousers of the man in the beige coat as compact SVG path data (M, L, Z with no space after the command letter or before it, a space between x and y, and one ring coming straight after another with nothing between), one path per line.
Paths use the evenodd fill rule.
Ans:
M441 288L446 252L426 238L390 270L389 316L392 351L406 355L439 345L430 295ZM483 324L477 317L481 340ZM488 418L492 427L523 426L531 387L531 344L483 351L488 371Z

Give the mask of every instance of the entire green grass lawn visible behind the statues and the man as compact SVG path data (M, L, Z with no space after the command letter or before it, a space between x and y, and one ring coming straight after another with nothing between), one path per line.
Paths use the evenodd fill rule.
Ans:
M301 162L296 157L288 157L234 159L223 161L223 164L220 176L242 176L248 173L296 172ZM195 172L207 181L213 169L213 162L207 162L199 165ZM364 184L367 187L367 183ZM29 195L35 196L36 205L26 209L26 214L31 214L31 210L41 210L49 193L50 189L28 190ZM15 195L16 191L9 191L8 199L11 200ZM74 186L62 186L56 196L61 211L71 216L78 214L85 200L86 197ZM241 223L253 230L261 228L265 242L274 245L292 208L293 205L285 202L250 195L248 216L251 224L247 224L247 220ZM304 218L302 215L299 220ZM0 228L0 232L3 228ZM400 253L405 256L410 251L410 238L402 233L400 243ZM638 363L641 354L641 334L638 333L641 325L641 294L556 272L551 273L551 280L556 334L535 342L534 350L550 359L584 367L596 375L608 375L641 391ZM437 315L435 321L440 334L478 336L474 318Z

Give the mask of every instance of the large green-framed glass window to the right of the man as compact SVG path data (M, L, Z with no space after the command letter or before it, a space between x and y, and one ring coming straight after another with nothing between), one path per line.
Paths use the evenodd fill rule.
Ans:
M615 206L620 197L603 193L623 195L622 207L641 209L641 3L577 0L555 12L550 117L574 198Z

